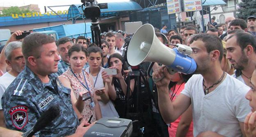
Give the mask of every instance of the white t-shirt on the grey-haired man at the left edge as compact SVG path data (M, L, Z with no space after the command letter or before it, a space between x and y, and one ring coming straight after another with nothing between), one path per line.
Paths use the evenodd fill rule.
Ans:
M14 81L16 77L11 75L10 73L5 73L0 77L0 110L2 110L2 95L5 93L6 88L11 84L12 81Z

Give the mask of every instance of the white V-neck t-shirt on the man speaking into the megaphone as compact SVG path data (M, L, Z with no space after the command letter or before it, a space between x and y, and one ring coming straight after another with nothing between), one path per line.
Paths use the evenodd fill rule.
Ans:
M251 111L245 99L249 87L230 76L207 95L203 92L203 76L193 75L181 92L191 98L194 137L204 131L213 131L226 137L241 137L239 122L244 122Z

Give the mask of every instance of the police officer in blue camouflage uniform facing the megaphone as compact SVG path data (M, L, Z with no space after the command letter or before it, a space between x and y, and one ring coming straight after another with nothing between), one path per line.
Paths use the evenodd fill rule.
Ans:
M83 127L85 122L78 126L75 107L71 104L70 89L62 86L53 74L57 72L60 60L55 40L42 33L30 34L23 40L22 52L25 57L25 69L2 97L7 128L27 131L34 126L43 112L56 105L60 108L59 117L36 135L83 135L88 127Z

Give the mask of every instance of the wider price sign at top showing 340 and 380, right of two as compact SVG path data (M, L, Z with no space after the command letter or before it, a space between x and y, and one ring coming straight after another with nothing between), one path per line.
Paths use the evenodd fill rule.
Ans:
M184 11L201 11L202 2L201 0L184 0Z

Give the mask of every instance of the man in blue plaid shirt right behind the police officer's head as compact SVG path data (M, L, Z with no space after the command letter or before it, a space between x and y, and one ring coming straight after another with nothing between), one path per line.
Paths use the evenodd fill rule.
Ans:
M58 72L57 75L62 75L70 66L69 64L69 49L73 46L73 42L68 37L60 38L57 42L57 49L61 60L58 63Z

